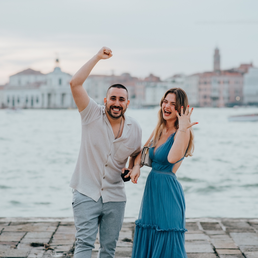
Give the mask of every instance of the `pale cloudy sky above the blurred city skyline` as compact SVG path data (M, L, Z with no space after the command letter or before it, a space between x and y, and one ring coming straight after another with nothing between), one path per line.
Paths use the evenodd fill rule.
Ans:
M102 46L113 57L92 74L165 79L213 69L258 66L256 0L0 0L0 85L32 68L75 72Z

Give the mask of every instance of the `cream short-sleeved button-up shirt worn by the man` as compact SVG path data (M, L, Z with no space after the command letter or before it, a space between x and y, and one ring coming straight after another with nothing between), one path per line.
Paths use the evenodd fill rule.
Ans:
M124 128L115 140L105 106L98 105L92 98L80 112L82 140L79 157L70 181L70 187L103 203L126 201L125 185L121 178L129 156L141 150L142 130L139 123L124 114Z

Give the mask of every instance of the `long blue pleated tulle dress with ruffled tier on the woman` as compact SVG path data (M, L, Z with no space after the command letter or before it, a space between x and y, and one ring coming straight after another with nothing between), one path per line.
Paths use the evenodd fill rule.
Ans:
M132 258L187 258L184 192L172 172L174 164L167 160L174 135L155 150L155 155L154 148L150 148L152 170L135 221Z

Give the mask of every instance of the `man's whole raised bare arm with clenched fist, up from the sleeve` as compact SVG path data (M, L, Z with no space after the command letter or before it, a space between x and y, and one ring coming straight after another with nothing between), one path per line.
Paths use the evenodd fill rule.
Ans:
M94 55L85 65L83 65L70 81L72 96L79 112L83 111L89 104L90 98L82 86L87 77L89 76L93 67L98 63L100 59L108 59L112 57L112 51L108 47L102 47L102 49Z

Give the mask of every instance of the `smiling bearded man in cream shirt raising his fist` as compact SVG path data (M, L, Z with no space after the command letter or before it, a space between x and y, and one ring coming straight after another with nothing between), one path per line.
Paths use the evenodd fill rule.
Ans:
M72 200L77 230L75 258L91 257L98 227L98 257L115 256L126 203L121 170L125 170L129 156L129 168L134 166L141 149L141 127L124 114L130 102L127 89L121 84L110 86L104 106L100 106L82 86L96 63L111 56L112 51L103 47L70 82L82 119L79 157L70 181L70 187L75 189ZM137 183L135 178L132 181Z

